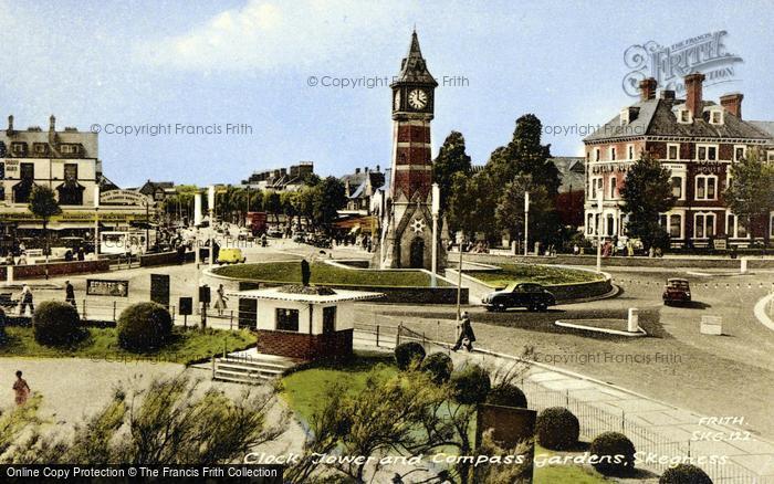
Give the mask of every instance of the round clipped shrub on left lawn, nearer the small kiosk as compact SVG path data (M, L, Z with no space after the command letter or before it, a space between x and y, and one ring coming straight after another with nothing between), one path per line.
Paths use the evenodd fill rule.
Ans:
M118 317L118 345L130 351L157 349L171 339L172 319L156 303L137 303Z

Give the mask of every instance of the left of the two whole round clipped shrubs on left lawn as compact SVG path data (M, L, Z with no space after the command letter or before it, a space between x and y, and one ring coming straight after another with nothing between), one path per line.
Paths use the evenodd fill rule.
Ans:
M44 301L32 314L35 341L41 345L65 346L77 343L83 336L77 311L61 301Z

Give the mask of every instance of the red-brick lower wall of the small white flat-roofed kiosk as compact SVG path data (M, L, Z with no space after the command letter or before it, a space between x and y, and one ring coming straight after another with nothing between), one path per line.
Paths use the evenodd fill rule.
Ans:
M308 335L292 332L257 329L259 353L297 359L348 358L352 356L353 330Z

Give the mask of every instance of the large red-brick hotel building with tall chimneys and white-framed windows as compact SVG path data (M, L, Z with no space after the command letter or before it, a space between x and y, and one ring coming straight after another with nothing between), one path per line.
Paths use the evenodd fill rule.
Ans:
M661 215L672 248L709 246L725 239L731 245L747 246L750 228L726 207L723 191L730 167L759 150L774 160L774 138L770 124L742 117L743 95L721 96L720 103L702 98L703 74L686 76L686 98L673 91L657 95L655 78L640 82L640 99L584 139L586 149L586 236L599 228L606 239L626 235L627 214L621 210L620 189L629 167L647 151L671 171L674 207ZM598 207L598 192L603 207ZM756 221L755 233L774 235L772 219Z

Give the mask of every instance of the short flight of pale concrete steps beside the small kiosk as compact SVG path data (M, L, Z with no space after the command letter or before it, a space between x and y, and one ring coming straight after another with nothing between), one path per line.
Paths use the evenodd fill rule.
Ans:
M257 351L240 351L216 358L212 368L212 379L234 383L261 385L280 377L293 368L297 361L274 355L262 355Z

